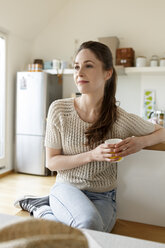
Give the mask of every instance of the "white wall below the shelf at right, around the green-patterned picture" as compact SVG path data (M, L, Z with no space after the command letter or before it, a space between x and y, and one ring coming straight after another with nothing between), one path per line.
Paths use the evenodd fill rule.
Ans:
M144 91L155 90L157 110L165 111L165 72L137 73L118 77L116 98L128 112L144 115Z

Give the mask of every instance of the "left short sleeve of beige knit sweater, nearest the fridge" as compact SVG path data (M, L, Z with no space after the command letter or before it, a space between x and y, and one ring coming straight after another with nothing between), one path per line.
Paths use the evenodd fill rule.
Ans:
M55 149L61 149L61 131L60 131L60 108L58 101L54 101L48 110L45 146Z

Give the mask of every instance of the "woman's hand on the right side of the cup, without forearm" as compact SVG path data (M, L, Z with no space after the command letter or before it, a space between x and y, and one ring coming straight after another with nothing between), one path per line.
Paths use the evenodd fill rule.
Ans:
M125 157L132 153L139 152L145 147L143 142L143 136L141 137L129 137L122 140L120 143L115 145L115 156Z

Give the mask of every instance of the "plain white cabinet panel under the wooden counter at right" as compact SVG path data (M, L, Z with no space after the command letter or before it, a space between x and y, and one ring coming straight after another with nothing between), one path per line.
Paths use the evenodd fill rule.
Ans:
M142 150L118 164L118 218L165 226L165 152Z

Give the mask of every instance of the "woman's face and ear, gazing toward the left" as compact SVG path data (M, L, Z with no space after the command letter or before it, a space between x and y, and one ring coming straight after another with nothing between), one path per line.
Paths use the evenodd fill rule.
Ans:
M90 49L81 50L74 63L74 81L82 94L103 94L105 82L112 70L103 70L103 63Z

